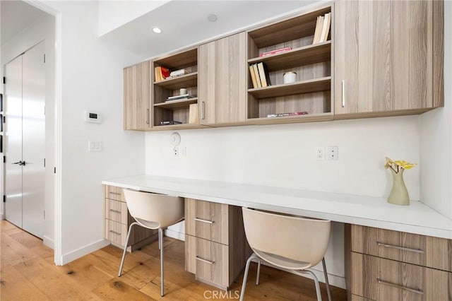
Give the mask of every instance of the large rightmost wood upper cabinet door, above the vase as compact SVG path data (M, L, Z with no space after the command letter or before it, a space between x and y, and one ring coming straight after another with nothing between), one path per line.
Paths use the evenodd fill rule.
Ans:
M443 18L436 5L335 2L335 116L411 114L441 105L433 89L440 64L434 47L442 47L433 35Z

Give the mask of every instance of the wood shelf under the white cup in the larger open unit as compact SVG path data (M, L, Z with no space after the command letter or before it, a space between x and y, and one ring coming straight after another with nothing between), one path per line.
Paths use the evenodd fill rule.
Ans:
M326 90L331 90L331 76L282 85L270 85L266 88L248 89L248 93L256 98L277 98L279 96L314 93Z

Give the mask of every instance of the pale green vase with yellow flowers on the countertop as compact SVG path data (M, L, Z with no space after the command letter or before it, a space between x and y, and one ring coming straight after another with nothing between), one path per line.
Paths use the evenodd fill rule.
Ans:
M393 189L391 189L391 194L389 194L388 203L403 206L410 205L410 196L408 195L405 182L403 182L403 172L405 170L410 170L416 165L416 163L408 163L403 160L391 160L386 157L386 164L384 167L386 169L389 168L393 174Z

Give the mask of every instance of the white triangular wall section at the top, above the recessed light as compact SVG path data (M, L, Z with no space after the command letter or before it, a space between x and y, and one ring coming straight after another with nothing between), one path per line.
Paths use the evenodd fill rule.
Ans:
M167 2L169 1L98 1L98 35L105 35Z

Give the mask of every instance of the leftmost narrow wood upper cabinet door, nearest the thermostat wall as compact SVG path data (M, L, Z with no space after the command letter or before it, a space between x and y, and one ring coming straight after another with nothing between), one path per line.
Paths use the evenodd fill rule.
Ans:
M124 68L124 129L150 129L150 61Z

